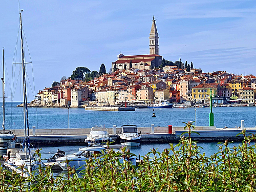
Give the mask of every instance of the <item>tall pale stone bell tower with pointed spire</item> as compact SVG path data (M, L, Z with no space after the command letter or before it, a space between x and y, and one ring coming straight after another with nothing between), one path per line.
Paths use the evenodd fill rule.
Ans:
M156 26L156 20L153 16L152 20L152 27L150 31L150 55L159 55L159 49L158 49L158 33L157 33L157 26Z

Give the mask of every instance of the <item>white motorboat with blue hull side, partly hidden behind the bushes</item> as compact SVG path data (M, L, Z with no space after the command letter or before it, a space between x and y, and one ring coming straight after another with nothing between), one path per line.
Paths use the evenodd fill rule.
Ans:
M103 153L108 145L92 145L88 147L79 148L79 151L76 154L66 155L56 159L56 162L63 170L68 169L68 165L76 170L83 170L86 168L86 160L94 158L94 155L97 154L97 158L102 158ZM103 158L102 158L103 160ZM131 157L129 159L132 165L136 165L136 158ZM123 163L123 158L119 158L119 162Z

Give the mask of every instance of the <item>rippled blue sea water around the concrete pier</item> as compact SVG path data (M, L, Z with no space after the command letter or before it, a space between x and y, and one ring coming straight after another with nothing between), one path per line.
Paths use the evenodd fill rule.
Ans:
M21 102L6 102L6 129L24 129L23 108L16 105ZM0 103L2 106L2 103ZM61 128L91 128L95 125L105 127L120 127L124 124L135 124L138 127L155 126L184 126L183 122L195 121L197 126L207 126L209 124L210 108L172 108L172 109L154 109L156 117L152 117L153 109L136 109L136 111L117 112L117 111L87 111L84 108L29 108L29 125L36 129L61 129ZM196 119L195 119L196 112ZM218 107L213 108L215 126L238 127L241 126L241 120L244 120L245 127L256 126L256 107L237 106L237 107ZM69 117L69 123L68 123ZM3 120L3 112L0 112L0 121ZM69 125L68 125L69 124ZM239 145L232 143L231 145ZM218 152L219 144L217 142L199 143L202 147L201 153L210 156ZM58 148L65 151L66 154L75 153L81 146L58 146L42 147L41 154L43 158L49 158ZM142 144L139 147L131 148L131 152L137 156L145 156L151 149L157 148L162 152L169 148L169 144ZM50 153L49 153L50 152Z

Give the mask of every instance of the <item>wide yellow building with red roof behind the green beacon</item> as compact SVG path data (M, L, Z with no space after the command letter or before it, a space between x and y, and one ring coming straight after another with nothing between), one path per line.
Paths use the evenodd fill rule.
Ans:
M192 100L197 103L207 103L209 101L210 90L212 97L218 94L218 83L204 83L192 88Z

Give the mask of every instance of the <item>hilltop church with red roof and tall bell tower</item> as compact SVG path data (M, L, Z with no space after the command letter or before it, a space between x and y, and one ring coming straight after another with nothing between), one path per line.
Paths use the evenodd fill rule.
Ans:
M132 62L132 67L140 70L150 70L158 68L162 63L162 56L159 55L159 45L158 45L158 33L156 20L153 16L152 27L150 31L150 54L149 55L129 55L125 56L119 54L117 60L112 62L112 72L114 72L114 66L119 70L124 70L130 68L130 63ZM125 66L125 67L124 67Z

